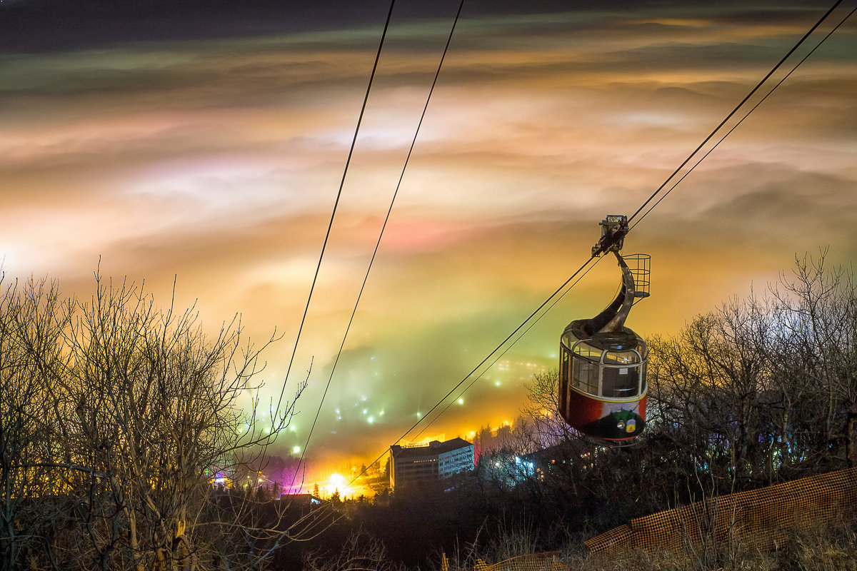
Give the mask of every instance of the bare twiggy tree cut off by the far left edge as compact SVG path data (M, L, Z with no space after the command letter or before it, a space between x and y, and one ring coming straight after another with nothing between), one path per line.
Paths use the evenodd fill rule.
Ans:
M58 509L50 498L63 485L50 467L57 452L51 412L69 311L56 283L5 285L0 276L0 287L0 568L31 557L56 567L49 535Z

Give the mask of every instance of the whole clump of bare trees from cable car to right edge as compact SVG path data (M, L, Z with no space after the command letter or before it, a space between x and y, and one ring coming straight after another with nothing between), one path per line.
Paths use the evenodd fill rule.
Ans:
M650 340L651 428L721 491L853 456L857 285L824 254L796 259L768 300L732 300Z

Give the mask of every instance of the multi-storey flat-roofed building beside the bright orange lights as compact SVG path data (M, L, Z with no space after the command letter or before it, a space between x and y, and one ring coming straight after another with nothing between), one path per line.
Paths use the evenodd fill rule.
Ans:
M433 440L417 446L390 447L390 486L411 482L449 478L453 474L473 469L473 444L464 438L446 442Z

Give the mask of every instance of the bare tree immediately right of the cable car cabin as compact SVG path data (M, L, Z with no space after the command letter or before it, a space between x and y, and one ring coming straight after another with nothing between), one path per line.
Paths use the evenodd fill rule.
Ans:
M672 339L650 340L650 430L700 470L731 486L770 481L771 407L766 317L751 298L694 318Z

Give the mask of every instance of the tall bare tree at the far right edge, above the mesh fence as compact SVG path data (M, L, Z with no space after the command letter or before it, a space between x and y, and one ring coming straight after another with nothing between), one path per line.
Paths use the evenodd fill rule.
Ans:
M771 288L776 324L769 355L788 394L794 461L806 467L854 459L857 417L857 281L854 271L795 257L792 277ZM790 390L788 390L790 389Z

